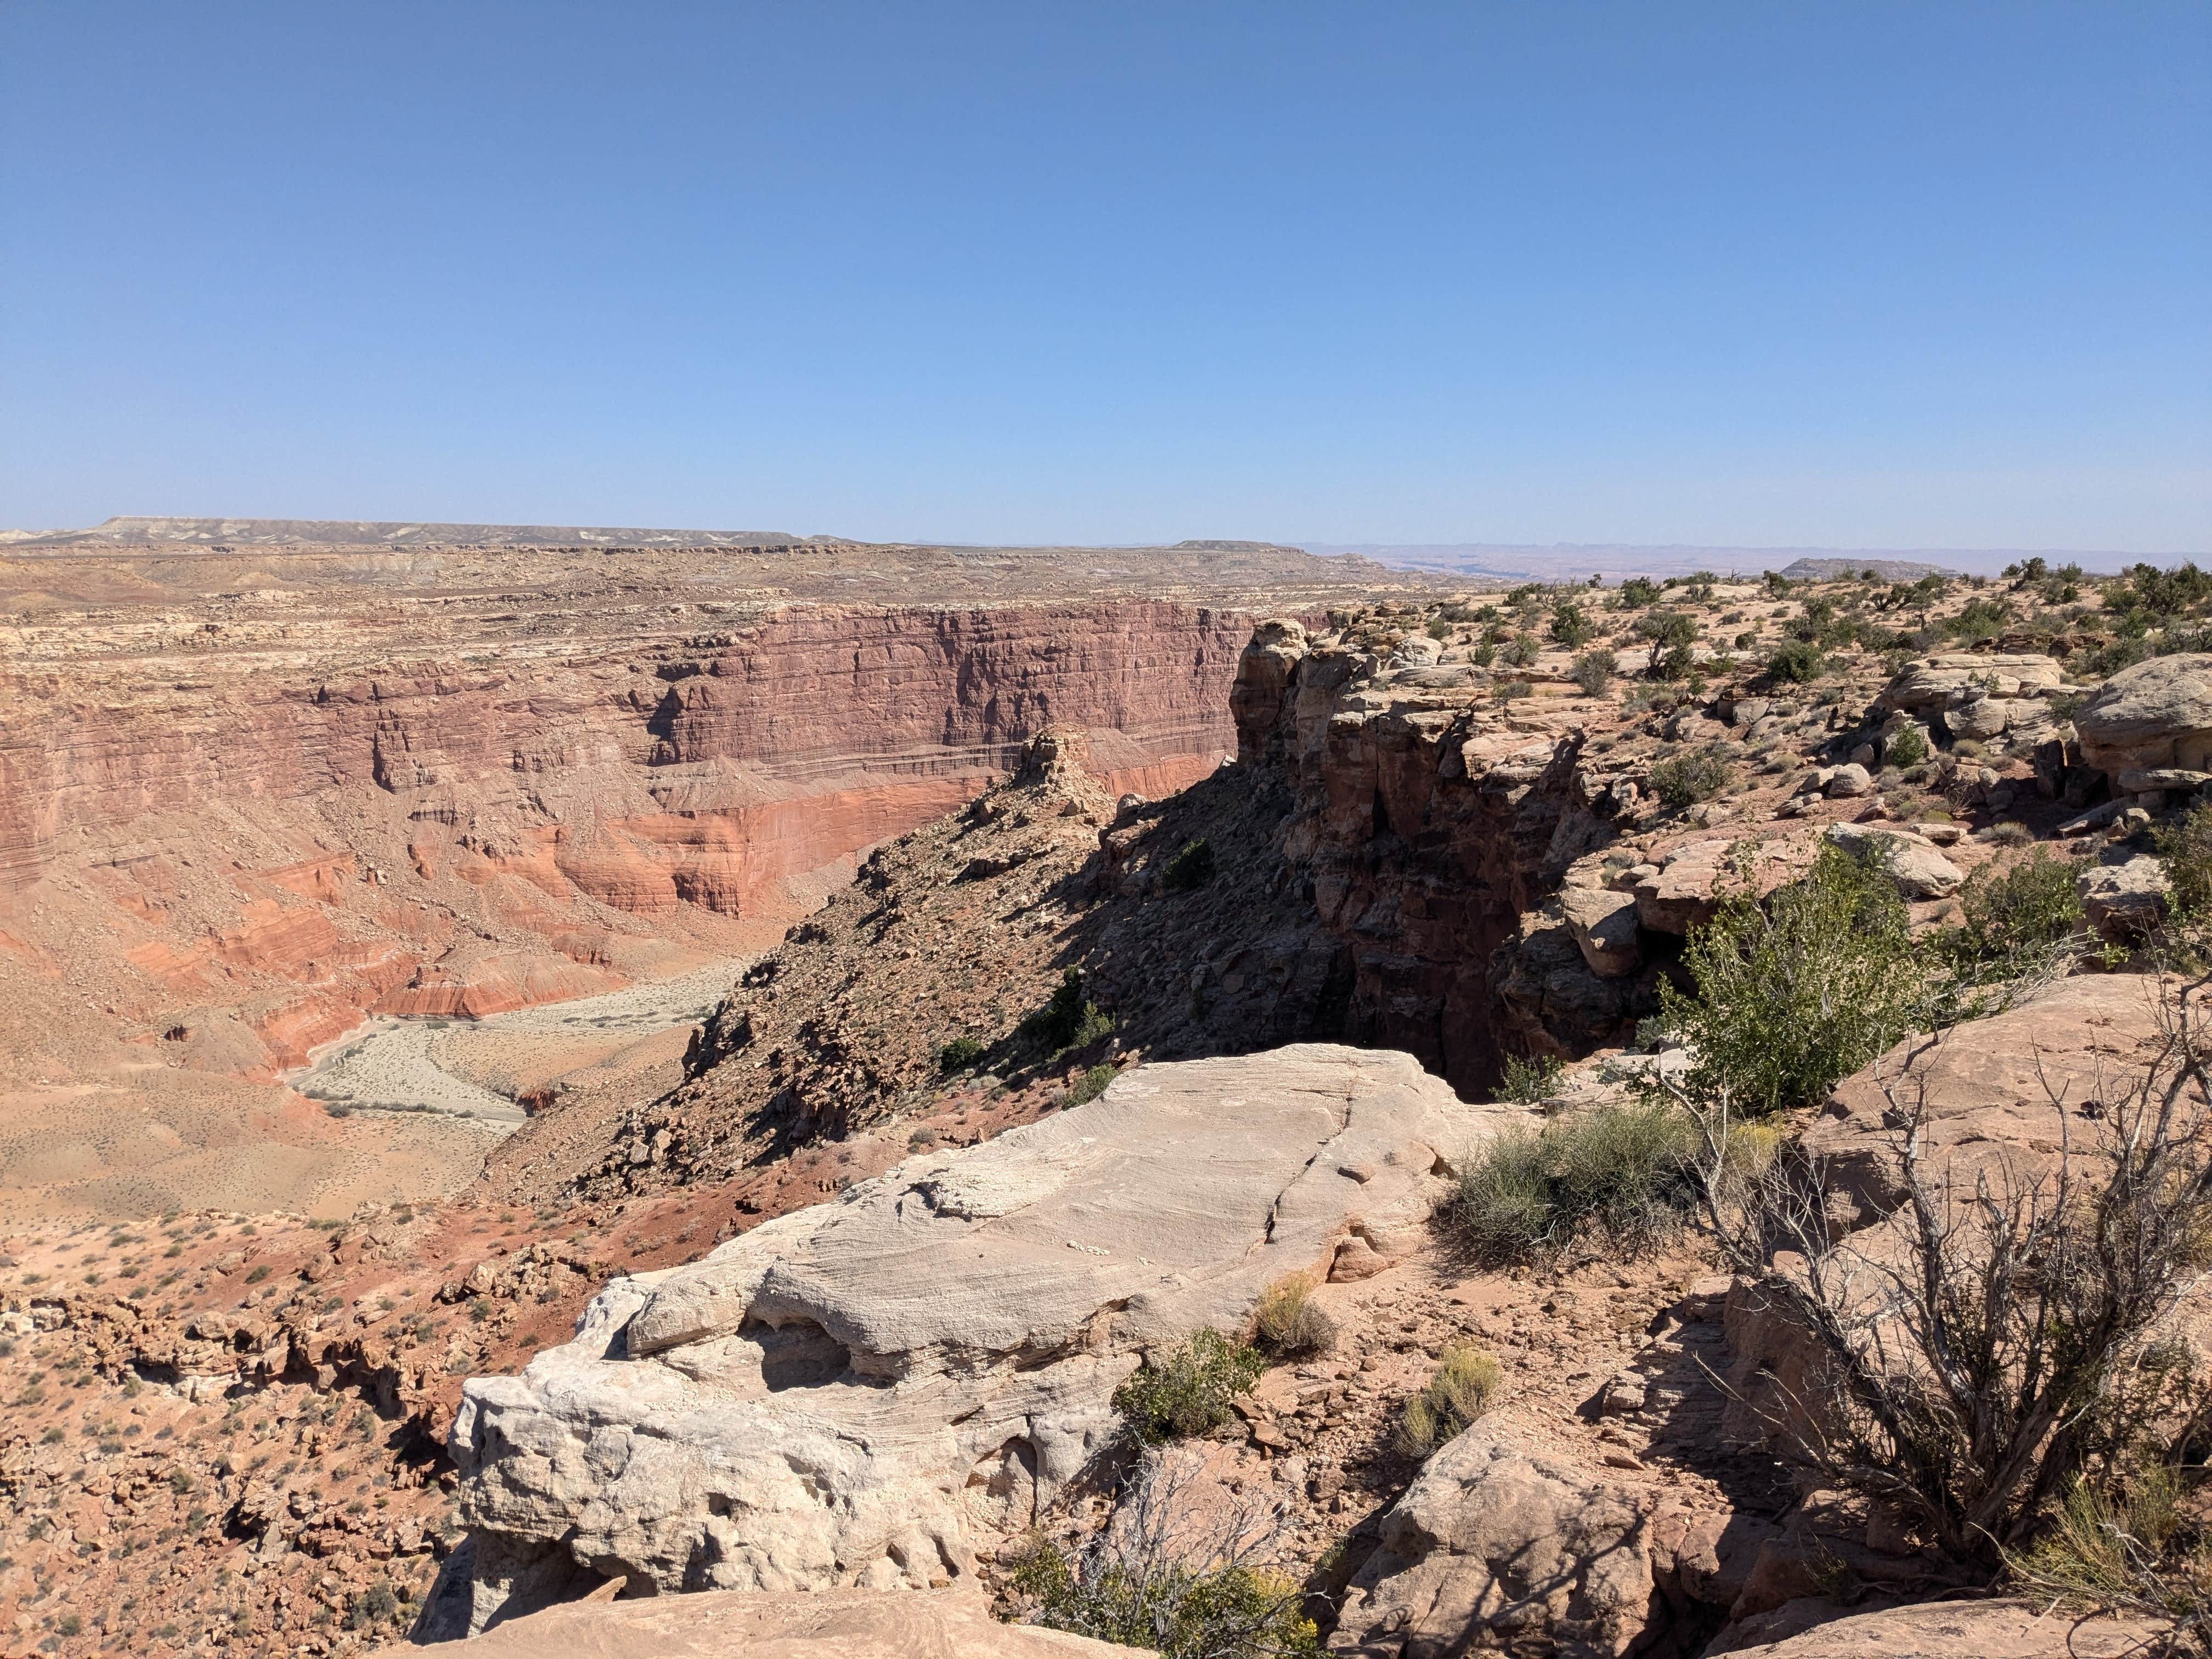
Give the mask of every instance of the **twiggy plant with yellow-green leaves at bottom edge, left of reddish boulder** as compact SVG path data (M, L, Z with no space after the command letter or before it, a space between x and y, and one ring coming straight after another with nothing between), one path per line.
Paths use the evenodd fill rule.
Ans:
M1276 1520L1239 1502L1194 1520L1188 1475L1146 1458L1113 1524L1075 1555L1048 1540L1000 1553L1015 1617L1048 1630L1150 1648L1161 1659L1318 1655L1296 1579L1263 1564Z

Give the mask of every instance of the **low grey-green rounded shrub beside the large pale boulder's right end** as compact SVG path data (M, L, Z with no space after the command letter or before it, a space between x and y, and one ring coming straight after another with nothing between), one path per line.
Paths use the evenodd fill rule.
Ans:
M1528 1261L1586 1234L1615 1250L1655 1248L1690 1203L1694 1137L1694 1124L1663 1102L1504 1130L1460 1170L1444 1225L1482 1265Z

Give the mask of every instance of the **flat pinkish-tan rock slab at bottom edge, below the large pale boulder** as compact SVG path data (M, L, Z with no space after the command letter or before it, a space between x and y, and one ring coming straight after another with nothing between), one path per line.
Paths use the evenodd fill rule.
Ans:
M378 1659L420 1652L376 1650ZM467 1648L469 1659L1141 1659L1146 1652L1000 1624L971 1590L708 1590L571 1601L509 1619Z

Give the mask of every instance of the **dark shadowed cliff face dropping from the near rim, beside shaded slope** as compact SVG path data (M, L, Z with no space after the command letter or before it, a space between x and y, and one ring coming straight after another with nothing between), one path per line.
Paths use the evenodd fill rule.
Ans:
M1438 657L1270 622L1232 708L1239 763L1294 794L1283 858L1349 951L1345 1037L1473 1093L1509 1053L1588 1053L1648 1011L1648 982L1599 980L1564 929L1531 945L1524 920L1615 841L1635 787L1586 757L1588 706L1498 701Z

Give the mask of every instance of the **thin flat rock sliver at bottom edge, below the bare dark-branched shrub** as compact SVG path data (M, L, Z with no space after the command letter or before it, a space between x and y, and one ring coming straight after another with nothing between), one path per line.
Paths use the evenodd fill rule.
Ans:
M1763 1641L1761 1628L1778 1635ZM1736 1659L2124 1659L2150 1650L2157 1632L2139 1619L2084 1619L2024 1601L1922 1601L1878 1613L1790 1601L1723 1632L1708 1652Z

